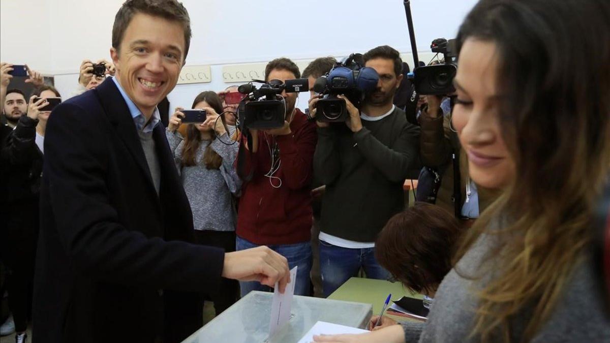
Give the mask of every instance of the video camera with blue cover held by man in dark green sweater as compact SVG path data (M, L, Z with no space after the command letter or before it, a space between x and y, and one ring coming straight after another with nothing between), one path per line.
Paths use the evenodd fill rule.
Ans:
M345 95L359 107L364 96L375 90L378 81L375 69L364 67L362 54L351 54L344 62L336 63L328 74L314 83L314 91L324 94L315 105L315 119L327 123L346 121L350 115L345 100L337 95Z

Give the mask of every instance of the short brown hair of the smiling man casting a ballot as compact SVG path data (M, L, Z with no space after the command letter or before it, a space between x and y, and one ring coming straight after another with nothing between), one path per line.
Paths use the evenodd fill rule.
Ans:
M178 21L184 29L184 56L182 60L187 58L188 46L190 46L191 30L190 18L187 9L184 8L182 2L176 0L127 0L121 5L115 16L115 22L112 26L112 47L119 50L123 36L127 30L127 26L131 19L137 13L145 13L152 16L159 16L163 19Z

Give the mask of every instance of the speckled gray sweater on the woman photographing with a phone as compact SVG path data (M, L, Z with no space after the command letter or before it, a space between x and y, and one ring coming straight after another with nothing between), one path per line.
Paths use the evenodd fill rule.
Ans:
M195 156L194 166L182 165L184 140L178 131L166 130L167 140L174 154L174 162L182 179L184 191L193 212L193 223L196 230L235 231L237 214L233 205L232 194L239 196L242 181L237 176L233 163L237 157L238 144L230 142L227 134L220 140L211 143L212 150L223 158L219 169L207 169L203 163L203 154L210 142L201 142Z

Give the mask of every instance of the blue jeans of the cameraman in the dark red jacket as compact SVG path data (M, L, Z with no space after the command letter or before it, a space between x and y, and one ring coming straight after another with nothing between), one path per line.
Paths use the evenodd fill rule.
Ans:
M235 248L237 251L256 248L259 245L249 242L242 237L237 236ZM298 265L296 270L296 295L309 295L310 279L309 271L311 270L311 242L303 242L297 244L276 244L267 245L271 250L279 255L284 256L288 260L290 269ZM240 292L242 297L250 291L272 291L271 287L260 284L257 281L239 281Z

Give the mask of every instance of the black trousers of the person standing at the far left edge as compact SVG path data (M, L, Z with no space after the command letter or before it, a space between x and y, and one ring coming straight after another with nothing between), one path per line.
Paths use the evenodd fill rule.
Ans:
M5 204L0 210L0 255L6 266L6 289L15 330L26 331L32 316L34 261L38 238L38 198Z

